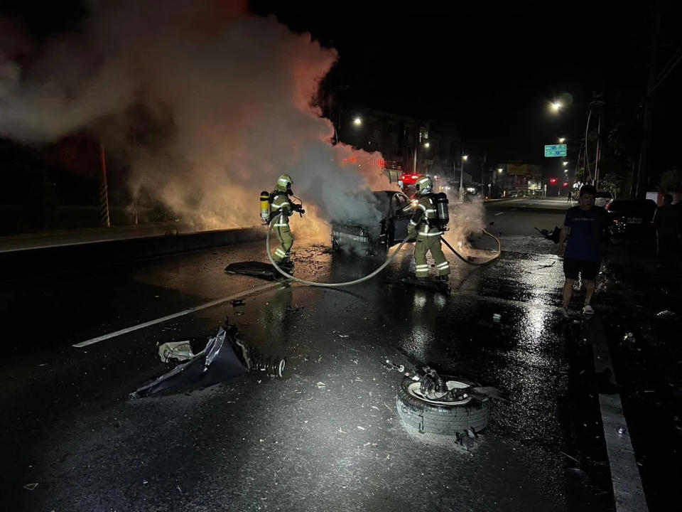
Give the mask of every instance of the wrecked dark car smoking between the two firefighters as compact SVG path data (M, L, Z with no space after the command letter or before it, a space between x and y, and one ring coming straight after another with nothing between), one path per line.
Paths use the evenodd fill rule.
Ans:
M407 226L414 213L410 198L396 191L372 192L384 213L376 225L332 223L332 248L375 252L386 250L407 237Z

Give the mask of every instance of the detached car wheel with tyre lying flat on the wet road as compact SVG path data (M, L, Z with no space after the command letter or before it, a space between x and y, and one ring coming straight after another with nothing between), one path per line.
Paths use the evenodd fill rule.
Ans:
M470 380L443 375L448 390L477 385ZM406 425L419 432L455 435L472 427L475 432L485 429L490 416L490 401L465 398L459 402L431 400L419 392L421 384L409 377L400 383L396 405L398 415Z

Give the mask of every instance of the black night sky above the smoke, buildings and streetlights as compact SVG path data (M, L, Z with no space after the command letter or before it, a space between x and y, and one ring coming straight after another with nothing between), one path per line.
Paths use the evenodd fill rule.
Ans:
M488 164L520 159L541 164L543 144L583 137L591 92L602 92L610 122L641 125L656 12L661 12L656 69L682 42L673 2L395 1L249 2L310 32L340 60L327 85L338 100L456 127L465 150ZM77 28L87 13L78 1L5 4L36 38ZM36 13L40 12L40 16ZM658 74L658 73L656 73ZM680 159L677 93L682 65L657 88L654 164ZM559 115L549 101L569 94ZM638 125L639 123L639 125ZM641 128L640 128L641 129Z

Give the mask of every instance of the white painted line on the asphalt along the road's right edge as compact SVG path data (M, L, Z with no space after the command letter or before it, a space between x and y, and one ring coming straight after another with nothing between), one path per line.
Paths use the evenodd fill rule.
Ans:
M595 373L603 375L607 387L616 389L617 382L604 326L599 316L585 321L585 331L592 346ZM609 458L611 481L617 512L648 512L634 457L627 421L619 393L599 393L599 406L604 429L604 440Z

